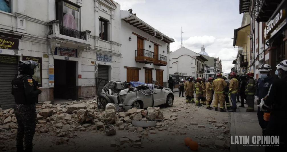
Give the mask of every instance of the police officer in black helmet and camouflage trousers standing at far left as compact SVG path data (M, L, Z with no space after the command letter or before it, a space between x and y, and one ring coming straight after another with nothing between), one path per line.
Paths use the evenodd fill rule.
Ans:
M19 75L12 80L12 95L15 98L15 115L18 123L17 152L24 151L23 139L25 139L25 152L32 152L33 137L36 128L36 103L42 90L37 81L32 78L34 69L39 67L35 61L19 61ZM25 136L25 138L24 138Z

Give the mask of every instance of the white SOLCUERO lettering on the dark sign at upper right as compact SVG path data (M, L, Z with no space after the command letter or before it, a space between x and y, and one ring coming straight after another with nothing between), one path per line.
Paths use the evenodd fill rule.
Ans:
M266 35L270 35L280 24L285 17L285 10L281 9L280 12L267 24Z

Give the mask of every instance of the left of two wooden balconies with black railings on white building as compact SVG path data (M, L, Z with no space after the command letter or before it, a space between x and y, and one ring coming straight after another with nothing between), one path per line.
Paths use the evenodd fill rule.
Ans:
M135 62L139 63L154 63L154 53L145 49L135 50Z

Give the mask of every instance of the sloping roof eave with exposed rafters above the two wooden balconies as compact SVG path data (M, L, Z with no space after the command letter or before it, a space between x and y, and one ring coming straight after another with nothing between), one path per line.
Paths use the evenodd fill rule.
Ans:
M127 14L125 11L121 11L121 20L129 23L130 25L133 25L134 27L140 29L141 31L144 31L145 33L150 34L151 36L154 36L155 38L165 42L165 43L172 43L175 42L170 37L164 35L160 31L156 30L152 26L148 25L148 23L142 21L134 14Z

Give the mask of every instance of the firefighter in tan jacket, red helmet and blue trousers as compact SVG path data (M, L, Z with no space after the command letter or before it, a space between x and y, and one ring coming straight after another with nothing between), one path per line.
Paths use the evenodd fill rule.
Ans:
M236 108L237 108L236 96L238 93L239 82L236 79L236 74L234 72L231 72L229 74L229 76L230 76L231 80L229 83L228 93L230 93L230 98L231 98L231 102L232 102L232 107L231 107L231 110L229 110L229 112L236 112Z

